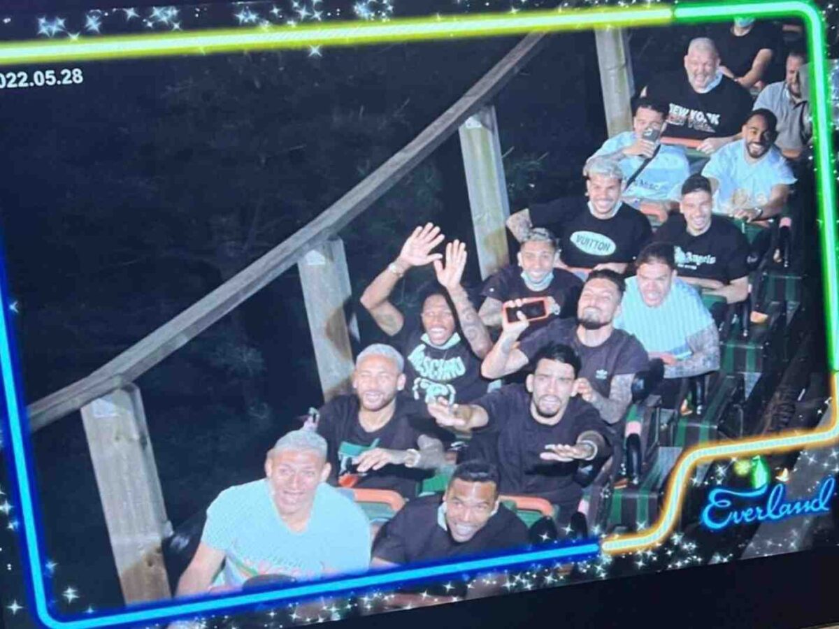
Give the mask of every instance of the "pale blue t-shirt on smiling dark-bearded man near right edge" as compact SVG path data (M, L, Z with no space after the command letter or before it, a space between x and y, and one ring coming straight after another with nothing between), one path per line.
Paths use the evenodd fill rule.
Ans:
M744 140L729 143L711 155L702 174L720 182L714 195L714 213L725 215L763 205L769 201L773 186L795 183L795 175L778 148L769 148L761 159L749 163Z

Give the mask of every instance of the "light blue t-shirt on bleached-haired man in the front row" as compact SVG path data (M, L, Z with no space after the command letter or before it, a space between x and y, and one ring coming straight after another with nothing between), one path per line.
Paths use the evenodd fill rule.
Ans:
M370 525L352 499L320 483L305 531L279 517L267 479L222 491L207 508L201 542L223 550L213 585L239 586L258 574L296 580L362 572L370 565Z

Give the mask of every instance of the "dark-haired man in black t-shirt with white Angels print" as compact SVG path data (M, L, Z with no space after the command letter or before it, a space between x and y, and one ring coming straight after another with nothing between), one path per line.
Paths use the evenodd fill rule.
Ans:
M676 270L686 283L736 304L748 297L748 240L712 207L711 182L690 175L681 189L681 214L670 216L654 241L675 247Z

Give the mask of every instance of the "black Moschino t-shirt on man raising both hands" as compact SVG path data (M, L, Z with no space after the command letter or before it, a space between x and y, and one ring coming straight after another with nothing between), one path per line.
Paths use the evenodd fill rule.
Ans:
M481 377L481 361L458 332L438 347L431 344L419 320L406 317L393 345L404 356L405 392L414 400L465 403L487 392L489 381Z

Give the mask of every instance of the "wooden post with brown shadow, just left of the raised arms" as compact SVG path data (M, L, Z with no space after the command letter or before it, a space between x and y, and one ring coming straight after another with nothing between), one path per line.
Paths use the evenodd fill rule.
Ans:
M350 391L353 359L350 345L352 335L358 338L357 322L347 325L344 306L352 299L347 255L340 238L333 238L315 247L297 263L300 283L315 360L320 377L320 388L325 401Z

